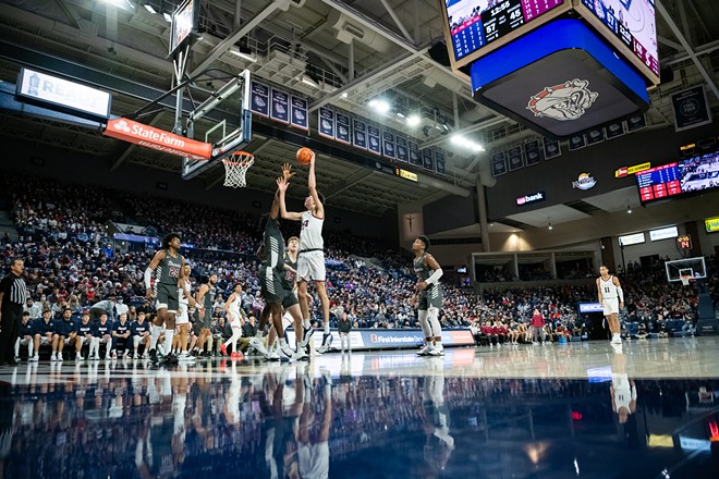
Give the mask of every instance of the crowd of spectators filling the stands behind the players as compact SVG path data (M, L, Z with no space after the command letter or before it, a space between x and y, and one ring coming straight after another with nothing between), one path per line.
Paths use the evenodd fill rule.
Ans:
M50 309L56 318L64 308L78 316L106 299L127 305L131 320L139 309L153 312L153 305L145 300L143 272L155 246L113 242L106 236L109 221L151 228L160 235L179 232L187 245L182 253L193 267L195 286L203 277L218 273L218 319L224 314L223 299L235 283L244 287L243 308L255 315L261 309L254 257L261 236L257 217L109 188L90 191L50 179L28 176L20 186L10 180L11 175L3 177L0 186L20 241L4 244L2 255L5 260L19 256L25 261L31 319L39 318L44 309ZM297 223L283 222L282 229L285 237L298 234ZM411 269L411 253L351 232L326 231L325 242L332 327L342 311L355 328L418 327L412 303L416 277ZM718 270L716 258L709 258L708 268ZM588 274L577 271L580 275ZM536 266L527 266L521 273L534 280L544 278ZM487 269L483 274L512 280L502 269ZM659 332L667 319L695 320L696 290L668 284L660 261L646 266L630 262L620 278L626 295L626 321ZM717 281L716 274L709 275L714 297ZM576 305L596 300L593 284L487 290L483 295L447 281L442 287L442 326L472 326L478 342L491 345L531 343L537 336L555 341L586 336L589 326L577 317ZM318 306L319 302L314 302L315 318L321 316ZM534 308L545 321L540 335L529 334ZM114 320L117 307L108 312Z

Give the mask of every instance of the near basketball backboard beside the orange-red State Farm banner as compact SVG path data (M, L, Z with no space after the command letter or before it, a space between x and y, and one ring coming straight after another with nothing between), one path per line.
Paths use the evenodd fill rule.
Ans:
M205 118L220 105L224 110L233 113L230 120L222 120L209 128L204 138L205 143L212 145L212 156L207 161L197 161L190 158L182 160L182 179L190 180L210 168L220 164L220 161L232 152L242 149L252 139L252 112L249 111L249 71L245 70L212 94L187 115L187 137L195 135L195 122ZM236 112L236 116L234 113Z

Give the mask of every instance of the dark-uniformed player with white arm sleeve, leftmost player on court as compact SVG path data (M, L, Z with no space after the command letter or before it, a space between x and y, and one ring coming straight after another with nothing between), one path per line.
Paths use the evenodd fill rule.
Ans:
M162 326L164 326L164 351L167 364L176 363L176 358L170 353L172 351L172 337L174 336L174 316L180 307L179 288L182 287L182 267L185 258L180 254L180 235L169 233L162 238L162 249L155 254L149 267L145 270L145 287L147 298L156 298L155 307L157 316L150 328L150 360L158 363L157 340L160 337ZM153 271L156 272L155 290L151 287Z

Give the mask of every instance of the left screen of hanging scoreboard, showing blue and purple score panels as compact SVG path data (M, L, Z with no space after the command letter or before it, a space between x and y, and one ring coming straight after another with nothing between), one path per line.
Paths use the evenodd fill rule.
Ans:
M487 45L514 32L527 32L537 26L536 19L562 4L569 7L570 3L569 0L440 1L443 5L448 45L452 46L452 64L455 67L477 59L478 52ZM528 23L532 23L532 26L522 28Z

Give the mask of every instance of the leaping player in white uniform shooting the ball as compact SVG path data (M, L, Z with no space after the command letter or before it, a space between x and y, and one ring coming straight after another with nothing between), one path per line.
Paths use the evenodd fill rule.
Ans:
M282 165L282 175L291 176L290 164ZM317 192L317 181L315 179L315 153L312 153L309 161L309 174L307 180L309 196L305 198L306 211L302 213L288 212L284 202L284 191L280 191L280 212L283 219L302 221L300 232L300 258L297 259L297 279L300 288L300 308L302 310L302 322L305 335L312 334L309 324L309 302L307 299L307 283L315 282L317 295L322 307L322 344L317 349L318 353L327 353L332 345L332 334L329 329L329 299L325 288L325 242L322 240L322 225L325 223L324 198L320 198Z

